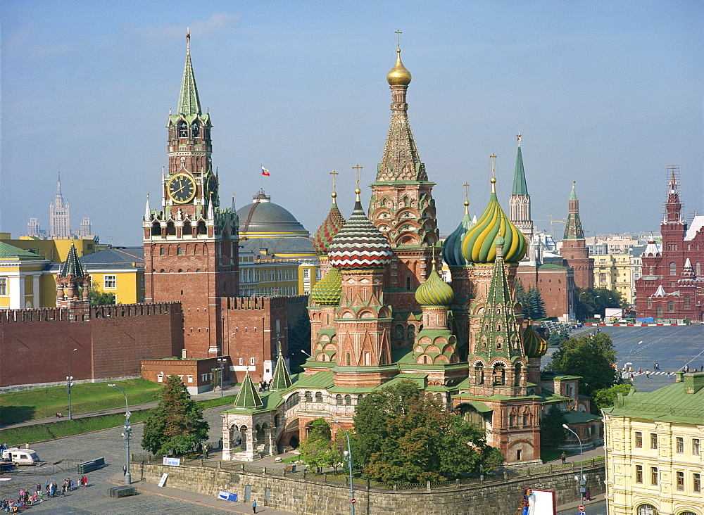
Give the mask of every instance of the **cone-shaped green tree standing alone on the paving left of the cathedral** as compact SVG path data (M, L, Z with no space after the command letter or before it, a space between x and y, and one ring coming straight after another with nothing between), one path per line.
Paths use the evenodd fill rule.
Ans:
M157 456L165 456L170 450L184 454L196 450L207 439L208 422L203 420L203 410L191 400L178 376L168 376L158 405L144 422L142 447Z

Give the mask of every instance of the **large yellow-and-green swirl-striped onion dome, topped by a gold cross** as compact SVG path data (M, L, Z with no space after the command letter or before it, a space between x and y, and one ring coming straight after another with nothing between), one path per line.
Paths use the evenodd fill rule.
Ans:
M472 263L493 263L496 260L494 240L497 236L502 236L504 239L503 260L505 262L515 263L522 260L526 253L526 239L508 220L508 216L498 203L496 191L492 191L484 214L467 232L463 240L462 253L465 260Z

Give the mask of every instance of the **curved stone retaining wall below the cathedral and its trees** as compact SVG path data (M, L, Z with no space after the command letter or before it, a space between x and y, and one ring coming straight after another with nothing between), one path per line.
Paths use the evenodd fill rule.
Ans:
M251 488L251 498L260 507L265 505L301 515L346 515L349 513L349 487L330 485L291 476L214 469L208 466L135 463L132 478L158 483L168 472L166 485L198 492L213 497L220 490L236 493L244 501L246 487ZM605 468L589 466L584 469L591 494L604 492ZM522 488L554 490L558 505L579 500L579 489L574 477L579 469L560 472L534 473L532 476L510 478L505 481L479 485L460 485L457 488L437 490L405 490L403 492L356 486L356 513L358 515L497 515L513 514L520 501ZM357 483L355 483L357 485ZM250 501L251 502L251 501Z

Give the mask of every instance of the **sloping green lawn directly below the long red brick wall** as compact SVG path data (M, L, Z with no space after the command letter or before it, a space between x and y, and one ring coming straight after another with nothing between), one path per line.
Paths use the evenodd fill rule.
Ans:
M161 385L146 379L130 379L118 381L115 384L125 390L130 405L154 402L158 400L161 390ZM120 390L108 386L108 383L84 383L71 388L73 414L124 406L125 396ZM65 386L0 395L0 425L2 426L46 419L58 412L64 416L68 415L68 393Z

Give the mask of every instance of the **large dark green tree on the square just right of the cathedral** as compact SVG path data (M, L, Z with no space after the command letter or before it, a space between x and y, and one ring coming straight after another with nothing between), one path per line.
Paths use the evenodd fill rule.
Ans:
M592 395L594 390L622 382L615 363L616 351L610 336L597 333L591 338L580 336L563 341L562 346L553 354L548 369L570 376L581 376L579 393Z

